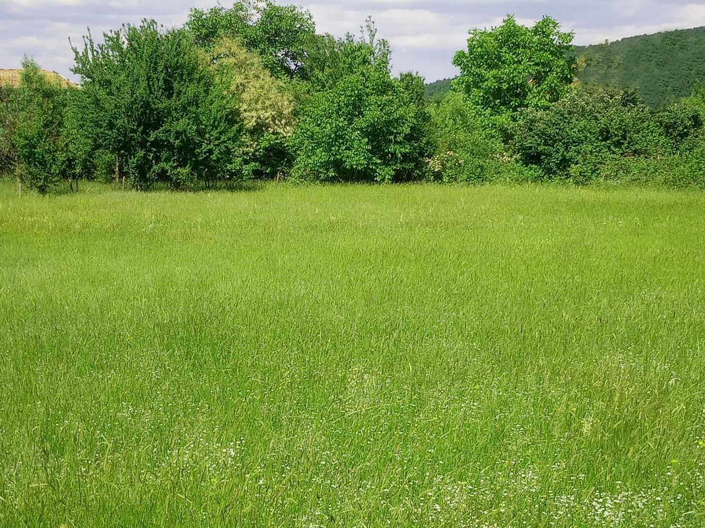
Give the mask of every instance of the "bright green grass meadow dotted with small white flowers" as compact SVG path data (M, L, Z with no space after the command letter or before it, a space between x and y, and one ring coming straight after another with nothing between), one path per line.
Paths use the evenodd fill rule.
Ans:
M0 187L0 524L703 527L705 194Z

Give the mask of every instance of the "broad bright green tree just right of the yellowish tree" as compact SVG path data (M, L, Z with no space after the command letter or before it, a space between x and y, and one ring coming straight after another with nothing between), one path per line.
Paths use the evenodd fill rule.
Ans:
M423 81L393 79L388 44L368 20L360 40L319 39L307 70L312 90L292 137L294 176L393 182L422 177L430 152Z

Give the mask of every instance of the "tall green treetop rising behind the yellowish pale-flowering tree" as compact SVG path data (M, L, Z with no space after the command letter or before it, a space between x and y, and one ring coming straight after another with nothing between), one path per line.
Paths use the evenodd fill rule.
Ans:
M216 6L207 11L192 9L185 28L197 46L212 49L222 39L242 42L259 54L275 77L296 77L302 69L313 18L297 6L279 6L271 0L237 1L232 8Z

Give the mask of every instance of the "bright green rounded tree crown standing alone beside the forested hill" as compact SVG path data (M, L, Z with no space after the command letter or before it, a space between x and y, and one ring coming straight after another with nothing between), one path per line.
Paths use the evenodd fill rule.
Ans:
M460 68L453 86L506 124L521 108L546 108L568 91L575 74L572 39L552 18L525 27L508 15L499 27L470 32L467 51L453 58Z

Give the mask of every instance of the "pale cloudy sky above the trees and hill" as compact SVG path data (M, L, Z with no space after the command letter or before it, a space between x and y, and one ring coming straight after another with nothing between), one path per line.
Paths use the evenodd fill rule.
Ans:
M223 0L225 6L231 1ZM18 68L23 55L42 68L71 74L68 44L80 43L87 27L98 36L122 23L155 18L181 25L191 7L217 0L0 0L0 68ZM681 0L316 0L297 4L314 15L319 32L358 32L372 15L388 39L397 71L415 70L431 82L456 75L453 54L465 46L471 27L493 27L507 13L532 24L543 15L575 32L575 44L597 44L637 34L705 25L705 1Z

